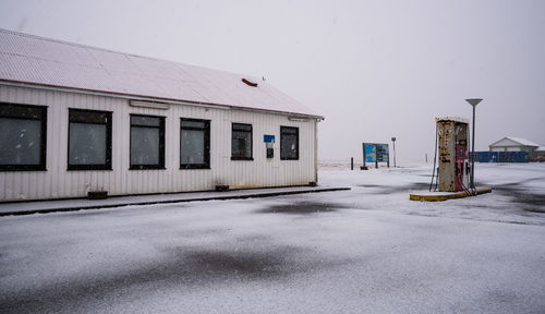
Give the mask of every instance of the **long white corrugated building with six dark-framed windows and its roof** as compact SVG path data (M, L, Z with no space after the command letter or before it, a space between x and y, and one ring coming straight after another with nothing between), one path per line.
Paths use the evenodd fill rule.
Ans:
M255 77L0 29L0 201L315 184L322 119Z

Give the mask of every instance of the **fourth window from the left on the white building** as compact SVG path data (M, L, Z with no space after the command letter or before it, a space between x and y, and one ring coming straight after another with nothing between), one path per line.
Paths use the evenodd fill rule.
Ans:
M210 121L181 119L180 169L210 169Z

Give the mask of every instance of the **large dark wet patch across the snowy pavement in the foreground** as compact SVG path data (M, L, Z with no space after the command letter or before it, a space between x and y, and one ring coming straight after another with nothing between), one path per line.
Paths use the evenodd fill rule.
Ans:
M7 312L31 313L35 309L46 312L66 312L77 304L118 295L132 287L203 287L231 280L270 280L305 271L304 263L296 263L294 247L280 247L267 252L215 251L173 247L161 258L142 266L131 265L124 271L98 271L92 277L75 277L62 285L34 287L11 291L0 298ZM95 269L96 270L96 269ZM69 278L71 279L71 278ZM159 285L159 286L157 286ZM141 289L141 288L140 288ZM62 300L59 302L58 300Z

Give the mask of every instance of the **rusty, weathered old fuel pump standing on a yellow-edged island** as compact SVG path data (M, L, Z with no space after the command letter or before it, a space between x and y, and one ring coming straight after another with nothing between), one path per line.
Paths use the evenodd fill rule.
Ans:
M435 121L439 153L437 170L439 191L469 192L469 121L450 117L437 118Z

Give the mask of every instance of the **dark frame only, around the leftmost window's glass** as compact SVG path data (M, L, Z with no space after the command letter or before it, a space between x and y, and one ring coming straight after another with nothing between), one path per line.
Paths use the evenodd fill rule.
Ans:
M32 108L37 110L38 114L25 114L26 112L10 112L9 107L16 110L16 108ZM13 110L12 109L12 110ZM40 143L39 143L39 164L21 164L21 165L0 165L0 171L47 171L47 106L24 105L12 102L0 102L0 118L15 119L15 120L35 120L40 121ZM29 116L29 117L28 117ZM38 117L34 117L38 116Z

